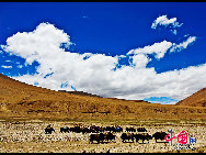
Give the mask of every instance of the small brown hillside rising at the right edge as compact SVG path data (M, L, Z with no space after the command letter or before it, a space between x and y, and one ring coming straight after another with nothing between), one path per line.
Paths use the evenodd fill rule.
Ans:
M206 88L178 102L176 106L206 107Z

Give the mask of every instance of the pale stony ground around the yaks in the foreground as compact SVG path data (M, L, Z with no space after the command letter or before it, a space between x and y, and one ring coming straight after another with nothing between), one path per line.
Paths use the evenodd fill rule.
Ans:
M44 133L44 129L52 124L56 130L55 133L48 135ZM91 124L91 123L90 123ZM94 123L93 123L94 124ZM170 143L156 143L154 140L147 141L146 144L123 143L121 134L116 134L116 140L103 144L89 144L89 135L82 133L60 133L60 126L73 126L72 122L0 122L0 153L152 153L152 152L176 152ZM89 125L89 124L83 124ZM101 124L95 124L101 125ZM103 124L105 126L105 124ZM125 132L126 126L122 125ZM136 129L138 128L135 126ZM197 144L195 151L186 150L181 152L204 152L206 150L206 129L205 125L150 125L145 128L152 135L157 131L168 133L169 129L173 129L174 134L185 130L188 136L196 136ZM178 143L176 139L173 144ZM206 151L205 151L206 152Z

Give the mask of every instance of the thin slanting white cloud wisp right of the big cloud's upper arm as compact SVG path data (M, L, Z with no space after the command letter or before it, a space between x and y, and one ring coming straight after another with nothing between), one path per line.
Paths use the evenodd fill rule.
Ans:
M170 49L170 52L180 52L182 49L185 49L190 44L196 41L196 36L190 36L186 41L180 43L180 44L173 44L173 47Z

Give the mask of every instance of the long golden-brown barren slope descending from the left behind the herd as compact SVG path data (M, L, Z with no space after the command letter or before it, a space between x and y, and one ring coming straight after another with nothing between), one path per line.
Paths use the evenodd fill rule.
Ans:
M0 119L206 120L206 108L72 95L0 75Z

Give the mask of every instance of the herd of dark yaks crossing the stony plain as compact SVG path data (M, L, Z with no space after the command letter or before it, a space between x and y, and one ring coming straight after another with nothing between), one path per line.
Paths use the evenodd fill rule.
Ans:
M50 124L45 129L45 134L52 134L52 132L55 132L54 128L50 126ZM90 125L89 128L85 126L75 126L75 128L60 128L60 132L76 132L76 133L91 133L90 134L90 142L93 143L93 141L96 141L98 143L103 143L104 141L115 141L115 133L123 132L123 128L121 126L95 126ZM136 133L138 132L138 133ZM164 137L168 134L165 132L156 132L152 136L147 133L147 130L145 128L138 128L137 130L135 128L126 128L125 133L122 133L121 139L124 142L129 142L136 140L136 142L139 143L139 140L146 141L149 143L149 140L154 139L156 143L157 140L161 140L161 142L164 140Z

